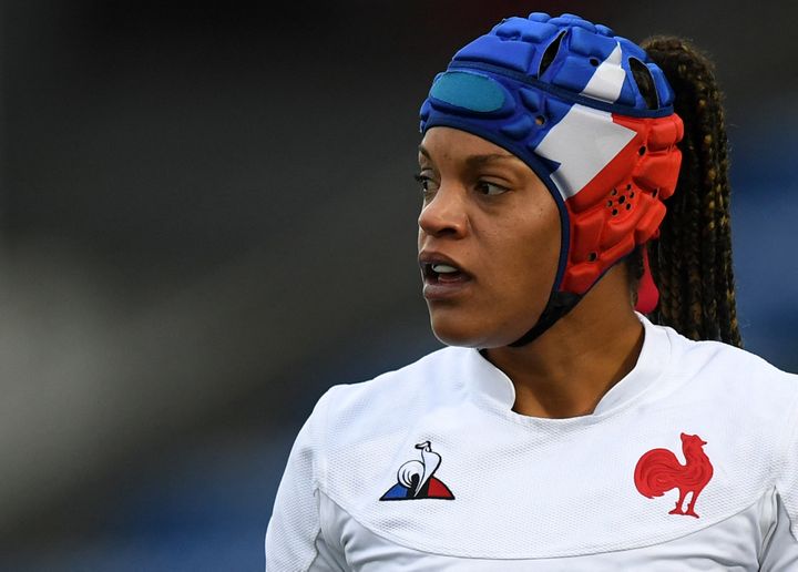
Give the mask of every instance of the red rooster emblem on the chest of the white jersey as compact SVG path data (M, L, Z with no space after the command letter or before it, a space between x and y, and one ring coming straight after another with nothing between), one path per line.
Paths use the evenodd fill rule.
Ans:
M635 487L640 493L653 499L662 497L671 489L678 489L676 507L668 514L685 514L697 519L695 501L714 472L709 458L704 452L705 445L706 441L697 435L682 433L682 452L687 461L685 464L678 462L676 456L667 449L652 449L644 453L635 467ZM692 492L693 497L687 510L684 510L688 492Z

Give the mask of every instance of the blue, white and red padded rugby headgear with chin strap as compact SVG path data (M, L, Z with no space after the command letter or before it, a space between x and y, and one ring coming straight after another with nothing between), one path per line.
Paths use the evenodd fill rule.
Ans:
M549 304L513 345L540 336L611 266L657 236L682 160L673 99L643 49L573 14L505 19L436 76L421 133L454 127L508 150L560 210Z

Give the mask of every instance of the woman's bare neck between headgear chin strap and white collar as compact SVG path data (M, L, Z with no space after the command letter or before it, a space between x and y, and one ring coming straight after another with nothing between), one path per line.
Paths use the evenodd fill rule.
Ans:
M590 415L634 368L644 330L628 298L617 296L617 284L626 275L616 269L621 270L607 273L531 344L484 351L515 386L515 412L548 418Z

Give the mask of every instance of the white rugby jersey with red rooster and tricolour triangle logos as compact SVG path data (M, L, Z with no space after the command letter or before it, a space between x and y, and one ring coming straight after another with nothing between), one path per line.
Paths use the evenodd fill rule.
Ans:
M798 376L640 318L636 366L583 417L515 413L466 348L331 388L266 569L798 570Z

